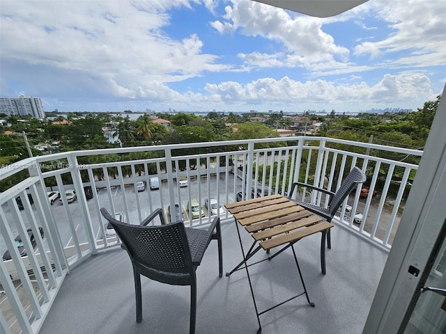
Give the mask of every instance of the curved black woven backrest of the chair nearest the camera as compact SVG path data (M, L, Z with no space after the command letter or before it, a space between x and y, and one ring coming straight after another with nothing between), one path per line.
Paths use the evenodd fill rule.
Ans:
M137 265L165 273L191 273L193 270L183 223L130 225L117 221L103 207L100 212L113 225L130 258Z

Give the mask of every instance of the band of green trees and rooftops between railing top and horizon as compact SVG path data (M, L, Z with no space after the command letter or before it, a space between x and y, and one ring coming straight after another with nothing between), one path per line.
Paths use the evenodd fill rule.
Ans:
M305 114L300 116L301 127L318 121L322 125L316 136L342 138L349 141L371 142L403 148L423 150L429 129L435 116L440 95L435 101L425 102L422 108L410 113L360 113L355 117L337 114L334 110L327 116ZM51 113L47 113L49 116ZM39 143L47 143L51 152L70 150L94 150L118 147L133 147L143 145L166 145L174 143L200 143L213 141L233 141L254 138L274 138L279 134L277 128L286 129L293 126L290 116L279 113L217 113L210 112L206 116L196 116L193 113L157 113L157 118L169 120L170 126L165 127L156 122L148 114L139 116L136 120L121 118L113 113L69 113L68 118L56 116L55 119L38 120L31 116L6 116L0 114L0 119L6 120L0 125L0 166L6 166L29 157L22 132L31 147L33 155L46 154L33 148ZM252 121L253 117L261 117L261 122ZM227 126L231 124L231 126ZM5 134L6 131L13 134ZM105 132L115 139L110 143ZM57 148L53 143L57 143ZM336 148L342 145L332 144ZM53 148L52 148L53 147ZM262 148L268 143L261 144ZM260 148L260 145L259 145ZM204 149L203 152L209 152ZM177 154L188 154L184 149ZM194 154L200 153L194 150ZM162 152L160 152L162 154ZM392 152L369 152L371 155L387 154L385 158L401 160L418 164L417 157L401 157ZM132 159L148 159L156 157L157 152L140 152ZM144 156L144 157L143 157ZM118 154L109 156L82 157L85 161L79 164L103 163L121 161L129 157ZM110 160L114 159L114 160ZM93 161L94 160L94 161ZM60 162L60 161L59 161ZM56 162L55 162L56 163ZM302 163L305 163L303 161ZM385 173L385 171L383 171ZM7 188L17 180L10 180Z

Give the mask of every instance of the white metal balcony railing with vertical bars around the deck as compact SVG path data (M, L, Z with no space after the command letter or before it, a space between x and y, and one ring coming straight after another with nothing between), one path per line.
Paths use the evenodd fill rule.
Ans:
M385 154L401 154L401 159ZM37 333L66 273L89 255L119 243L116 237L106 236L100 207L112 214L121 212L124 221L138 224L157 207L164 208L168 219L175 219L175 210L169 216L168 208L178 204L185 224L206 224L210 221L206 207L204 216L192 217L192 198L203 207L210 197L224 205L251 196L286 196L297 180L335 191L349 170L358 166L367 173L369 195L360 198L361 189L353 192L334 222L388 250L410 188L410 174L417 170L421 155L417 150L302 136L63 152L1 168L0 182L26 175L1 193L0 253L9 250L12 260L0 261L4 291L0 328L4 333ZM408 159L415 163L405 162ZM160 189L150 189L151 176L160 179ZM178 184L180 176L187 177L187 187ZM146 182L146 190L136 191L138 181ZM93 190L91 199L86 198L86 186ZM61 196L54 205L49 202L47 191L66 189L75 189L77 200L68 203ZM17 204L19 196L23 209ZM312 200L323 202L323 198ZM346 218L346 205L352 212L362 212L359 225L353 214ZM229 218L227 212L222 215L222 221ZM39 227L45 232L43 238ZM28 229L35 239L22 237L23 257L15 237L27 235Z

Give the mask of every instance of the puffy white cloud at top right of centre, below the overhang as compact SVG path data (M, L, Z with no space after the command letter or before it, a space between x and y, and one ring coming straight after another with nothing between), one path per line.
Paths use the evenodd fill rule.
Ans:
M278 66L311 67L315 63L335 63L336 59L346 61L349 51L336 45L328 33L323 32L322 20L315 17L298 16L295 18L280 8L274 8L248 0L232 0L232 6L226 6L224 22L213 22L213 27L223 33L233 33L237 29L248 36L261 36L279 42L284 46L289 57L277 63ZM254 52L252 57L245 55L245 60L253 59L252 65L261 66ZM271 55L270 58L278 59Z

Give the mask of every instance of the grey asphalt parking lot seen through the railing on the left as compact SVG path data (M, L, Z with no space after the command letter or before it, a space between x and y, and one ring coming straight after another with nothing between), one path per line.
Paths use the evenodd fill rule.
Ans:
M206 198L214 197L219 200L220 205L226 204L226 202L234 202L234 198L229 196L229 193L233 191L233 175L229 174L229 179L226 180L226 174L222 173L220 177L216 175L210 176L210 181L208 182L207 177L192 178L188 180L187 186L178 186L176 180L173 180L173 185L175 187L174 200L175 203L180 206L180 212L183 216L184 221L190 221L192 218L187 208L187 202L189 198L195 198L199 202L199 205L203 209L204 216L196 219L198 223L208 221L208 209L204 206L204 201ZM237 180L236 185L237 191L242 189L240 180ZM226 184L229 185L229 189L226 193ZM96 200L98 200L99 207L105 207L109 212L112 212L112 207L114 212L121 212L123 214L123 221L126 223L139 224L153 209L162 207L164 210L165 217L167 218L167 209L170 205L168 183L160 182L159 189L150 189L149 184L146 185L144 191L135 191L132 184L128 186L114 186L110 191L105 188L96 189L95 197L87 200L87 205L89 208L89 215L92 221L92 228L96 239L102 239L102 230L100 224L105 224L105 219L99 215L98 209L96 207ZM54 189L50 190L56 190ZM54 204L51 205L51 210L56 220L57 228L59 229L59 234L64 247L69 247L75 244L75 238L79 243L87 242L86 234L86 224L84 222L84 213L82 212L82 207L79 205L79 194L78 198L74 202L68 204L68 214L63 204L59 200L55 200ZM35 203L32 205L35 209ZM172 203L174 205L174 203ZM12 219L10 210L7 205L3 206L3 210L6 214L6 219L8 222L14 221ZM29 225L28 217L24 210L20 211L22 219L26 226ZM72 221L72 225L69 223ZM17 234L17 227L15 224L10 224L10 229L14 235ZM6 251L6 245L2 241L0 245L0 254Z

